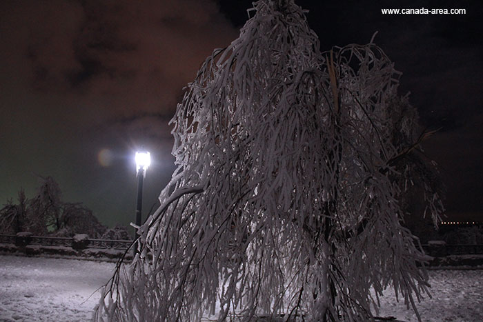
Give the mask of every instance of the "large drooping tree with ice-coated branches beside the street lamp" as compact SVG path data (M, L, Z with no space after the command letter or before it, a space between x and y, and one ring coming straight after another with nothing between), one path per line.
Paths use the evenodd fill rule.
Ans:
M320 52L293 0L254 6L177 107L178 168L97 321L368 321L388 285L413 308L427 292L400 203L425 135L393 63L373 43Z

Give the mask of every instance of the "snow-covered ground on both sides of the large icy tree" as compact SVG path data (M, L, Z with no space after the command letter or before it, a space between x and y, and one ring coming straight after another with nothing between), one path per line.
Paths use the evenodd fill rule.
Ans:
M100 296L96 290L114 267L96 261L0 256L0 321L90 321ZM423 321L483 321L483 270L431 270L429 276L433 298L418 305ZM389 290L379 316L417 321Z

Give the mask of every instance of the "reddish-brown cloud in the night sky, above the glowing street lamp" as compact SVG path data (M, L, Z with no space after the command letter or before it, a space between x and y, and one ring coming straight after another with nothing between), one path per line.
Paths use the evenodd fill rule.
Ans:
M170 116L204 57L237 36L211 1L8 5L2 21L11 67L22 66L24 81L40 92L69 95L88 109L85 102L95 101L94 114L79 107L87 121Z

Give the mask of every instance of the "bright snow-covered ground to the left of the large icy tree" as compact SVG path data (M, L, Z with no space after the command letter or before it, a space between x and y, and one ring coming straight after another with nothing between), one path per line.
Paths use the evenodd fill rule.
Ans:
M0 321L90 321L96 290L114 268L106 262L0 256Z

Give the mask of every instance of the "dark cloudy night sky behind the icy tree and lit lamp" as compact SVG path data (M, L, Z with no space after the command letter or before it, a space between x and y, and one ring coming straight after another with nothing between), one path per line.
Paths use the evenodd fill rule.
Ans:
M134 152L153 164L144 213L172 170L168 121L214 48L238 36L252 1L0 1L0 203L28 197L36 174L59 182L103 223L134 220ZM440 164L451 220L483 214L483 11L477 1L398 1L462 15L382 15L379 1L296 1L321 49L375 43L403 72L400 93Z

